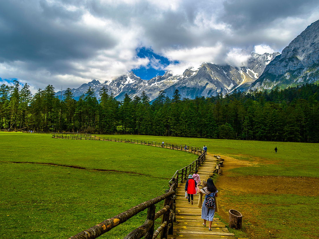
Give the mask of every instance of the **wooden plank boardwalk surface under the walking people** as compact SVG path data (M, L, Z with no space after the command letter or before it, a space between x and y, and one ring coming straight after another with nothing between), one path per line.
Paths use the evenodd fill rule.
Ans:
M216 163L217 158L209 154L206 155L205 162L198 169L201 181L213 175ZM211 231L208 230L208 221L206 222L207 226L203 226L202 209L197 207L199 194L194 195L193 205L188 204L188 199L185 199L185 184L186 181L178 184L176 222L174 222L173 235L168 235L167 239L236 239L237 237L228 231L226 225L219 221L219 218L214 217Z

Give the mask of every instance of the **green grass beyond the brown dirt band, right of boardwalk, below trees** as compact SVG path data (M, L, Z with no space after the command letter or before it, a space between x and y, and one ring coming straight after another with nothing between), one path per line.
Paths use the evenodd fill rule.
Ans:
M216 140L142 135L100 136L158 142L164 140L165 143L187 144L196 147L206 145L208 152L216 155L228 155L248 160L249 162L259 159L259 165L233 170L235 173L242 175L319 177L319 145L316 143ZM277 154L275 154L275 147L278 148ZM267 162L267 165L263 161ZM256 166L258 166L258 170L256 170Z

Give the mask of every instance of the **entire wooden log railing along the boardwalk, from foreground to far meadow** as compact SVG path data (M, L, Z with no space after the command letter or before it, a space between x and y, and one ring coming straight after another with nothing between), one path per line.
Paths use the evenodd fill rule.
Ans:
M179 182L183 182L186 179L187 174L191 174L204 162L206 156L204 150L197 147L188 147L188 149L177 147L174 144L164 144L155 141L140 141L140 140L128 140L119 138L106 138L72 134L53 134L53 138L59 139L74 139L74 140L99 140L99 141L115 141L125 143L145 144L150 146L157 146L170 149L178 149L188 151L194 154L199 154L195 161L187 165L186 167L177 170L171 180L169 181L170 188L166 192L156 198L143 202L137 206L130 208L129 210L122 212L112 218L100 222L99 224L84 230L77 235L71 236L69 239L95 239L100 235L108 232L112 228L122 224L131 217L137 215L139 212L147 209L147 218L143 225L139 226L135 230L131 231L124 239L138 239L144 237L145 239L160 239L167 238L168 234L173 234L173 222L175 221L175 199L176 188ZM164 200L162 208L156 212L156 204ZM155 213L156 212L156 213ZM154 230L155 220L162 216L161 225Z

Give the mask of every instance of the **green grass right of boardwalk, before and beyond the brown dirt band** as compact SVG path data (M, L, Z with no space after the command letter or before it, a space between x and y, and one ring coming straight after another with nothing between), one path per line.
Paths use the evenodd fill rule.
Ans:
M114 137L114 135L113 135ZM116 136L118 137L118 136ZM121 136L120 136L121 137ZM174 138L156 136L123 135L123 138L162 141L208 146L208 151L214 154L228 155L237 159L258 164L251 167L240 167L231 170L233 176L284 176L284 177L319 177L319 147L315 143L266 142L266 141L236 141L211 140L196 138ZM274 148L278 148L275 154ZM227 163L227 162L225 162ZM307 180L307 178L305 178ZM278 179L280 183L280 179ZM319 184L319 183L318 183ZM317 190L318 184L313 185ZM303 185L287 185L300 187ZM223 191L223 190L222 190ZM260 193L234 194L224 191L224 198L241 213L252 215L244 218L244 231L256 232L254 238L319 238L319 198L314 196L300 196L289 193L275 194ZM228 211L230 208L225 209ZM250 223L249 221L252 221ZM260 224L256 224L256 221ZM236 231L235 231L236 233ZM238 233L238 236L247 235ZM249 234L253 236L253 234Z

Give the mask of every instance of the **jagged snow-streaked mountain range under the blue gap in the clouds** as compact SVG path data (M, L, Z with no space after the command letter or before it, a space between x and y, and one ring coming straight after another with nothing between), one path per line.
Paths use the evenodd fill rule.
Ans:
M165 91L168 97L172 97L178 89L182 98L194 99L196 97L211 97L222 92L224 95L232 92L235 88L247 89L251 83L263 73L266 65L279 53L256 54L252 53L247 67L237 68L233 66L220 66L213 63L203 63L198 69L186 69L182 75L172 75L166 72L163 76L156 76L150 80L143 80L129 72L114 80L100 83L93 80L82 84L77 89L72 89L74 98L78 99L91 87L98 97L101 88L107 88L113 92L116 99L122 100L127 93L130 98L140 96L143 91L155 99L160 91ZM62 91L62 94L64 91ZM61 95L61 91L56 95Z

